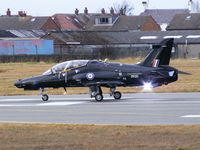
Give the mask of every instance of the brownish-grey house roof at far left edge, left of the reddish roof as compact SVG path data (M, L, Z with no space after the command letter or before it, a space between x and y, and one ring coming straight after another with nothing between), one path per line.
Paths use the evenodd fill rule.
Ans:
M40 30L50 17L1 16L1 30Z

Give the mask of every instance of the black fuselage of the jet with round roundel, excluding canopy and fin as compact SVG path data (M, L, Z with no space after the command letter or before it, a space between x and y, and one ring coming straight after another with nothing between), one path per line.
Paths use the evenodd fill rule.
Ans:
M169 66L157 68L141 65L106 63L92 60L86 66L74 68L67 72L40 75L19 80L18 88L38 90L40 88L59 87L104 87L143 86L150 82L153 87L168 84L178 78L177 70Z

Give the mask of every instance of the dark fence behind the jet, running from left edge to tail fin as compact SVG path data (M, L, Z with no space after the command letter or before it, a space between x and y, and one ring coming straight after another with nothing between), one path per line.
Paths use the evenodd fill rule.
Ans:
M117 59L144 57L150 51L146 45L54 45L52 55L1 55L0 62L61 62L72 59Z

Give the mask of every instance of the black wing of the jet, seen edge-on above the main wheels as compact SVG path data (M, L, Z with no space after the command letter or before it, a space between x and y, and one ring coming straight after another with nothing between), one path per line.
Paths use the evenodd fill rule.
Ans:
M116 87L116 86L124 86L124 82L121 81L98 81L98 82L87 82L84 84L85 86L105 86L105 87Z

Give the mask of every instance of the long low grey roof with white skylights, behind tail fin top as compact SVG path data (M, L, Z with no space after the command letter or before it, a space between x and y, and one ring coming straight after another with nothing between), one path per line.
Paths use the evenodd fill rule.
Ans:
M80 44L158 44L166 38L174 38L177 44L199 44L200 31L52 31L51 37Z

